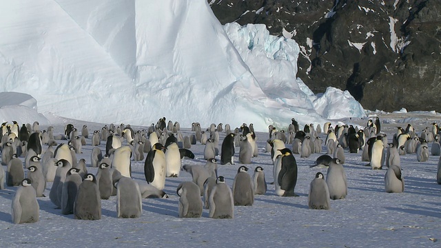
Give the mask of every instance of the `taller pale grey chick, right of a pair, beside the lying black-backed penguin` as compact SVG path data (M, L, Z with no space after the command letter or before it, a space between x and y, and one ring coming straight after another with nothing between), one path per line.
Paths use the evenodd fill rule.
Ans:
M326 174L329 196L332 200L344 199L347 195L347 178L345 169L338 158L329 163Z

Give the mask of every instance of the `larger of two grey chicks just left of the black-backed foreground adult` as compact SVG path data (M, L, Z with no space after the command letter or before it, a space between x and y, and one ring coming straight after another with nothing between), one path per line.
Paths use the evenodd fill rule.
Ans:
M233 200L235 206L252 206L254 204L254 185L248 168L240 166L233 182Z

